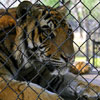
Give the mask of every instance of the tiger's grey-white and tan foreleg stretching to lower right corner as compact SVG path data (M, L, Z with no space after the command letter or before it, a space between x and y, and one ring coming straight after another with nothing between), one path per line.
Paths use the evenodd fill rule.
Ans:
M100 86L85 82L72 73L64 75L64 82L58 89L61 96L67 100L100 100Z

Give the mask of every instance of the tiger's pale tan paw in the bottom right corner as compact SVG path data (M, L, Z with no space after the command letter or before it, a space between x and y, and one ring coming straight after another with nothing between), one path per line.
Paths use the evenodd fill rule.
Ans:
M100 86L80 83L76 88L78 100L100 100Z

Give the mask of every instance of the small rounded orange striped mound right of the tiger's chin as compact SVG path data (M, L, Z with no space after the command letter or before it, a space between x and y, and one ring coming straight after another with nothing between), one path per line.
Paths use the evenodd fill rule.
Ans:
M74 62L69 71L74 74L89 74L92 72L92 65L85 61Z

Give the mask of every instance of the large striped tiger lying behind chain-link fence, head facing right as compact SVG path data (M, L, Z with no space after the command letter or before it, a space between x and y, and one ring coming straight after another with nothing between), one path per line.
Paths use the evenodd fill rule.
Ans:
M13 14L10 16L12 15L12 19L16 20L12 21L12 26L6 25L7 33L3 32L3 29L0 33L0 76L5 82L7 80L10 82L9 87L13 88L12 84L14 84L18 89L15 91L24 94L26 90L24 87L28 87L28 84L33 84L35 91L36 85L39 85L46 91L56 93L54 100L58 100L59 96L64 100L96 99L100 93L100 86L88 84L80 77L67 72L74 63L75 51L73 30L65 18L66 7L52 8L23 1L14 8L14 11L15 17ZM4 18L6 17L9 17L9 14L4 15ZM2 90L5 84L0 85ZM22 89L20 89L21 85ZM9 87L4 94L10 91ZM32 100L34 94L31 95L31 90L29 94L27 91L24 97L28 96ZM1 91L0 94L2 93ZM6 98L4 94L2 96ZM46 100L51 99L50 96L52 97L48 95ZM25 99L27 100L27 97Z

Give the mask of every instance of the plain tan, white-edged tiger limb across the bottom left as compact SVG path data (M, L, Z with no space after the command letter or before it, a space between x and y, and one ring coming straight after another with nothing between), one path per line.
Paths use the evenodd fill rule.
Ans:
M63 100L34 83L20 82L0 76L0 100Z

